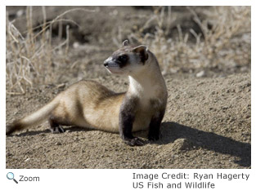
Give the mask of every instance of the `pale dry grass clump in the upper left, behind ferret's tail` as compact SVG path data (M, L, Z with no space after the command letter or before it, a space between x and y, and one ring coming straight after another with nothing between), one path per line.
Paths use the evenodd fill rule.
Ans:
M56 78L55 69L67 64L69 60L69 25L65 29L66 38L61 42L61 23L69 21L76 24L73 20L65 20L63 16L70 11L90 11L80 8L71 9L47 22L45 7L42 7L43 24L34 28L32 9L33 7L26 9L27 31L25 36L16 29L14 21L9 21L7 16L6 81L8 94L24 94L27 86L53 82ZM60 24L60 38L57 44L52 40L53 24Z

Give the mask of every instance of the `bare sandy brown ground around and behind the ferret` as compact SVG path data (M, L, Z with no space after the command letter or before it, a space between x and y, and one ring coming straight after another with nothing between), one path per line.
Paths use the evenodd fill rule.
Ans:
M11 8L14 13L11 14L15 15L19 9ZM60 8L51 9L55 16L61 13ZM115 9L109 9L107 11L114 11L115 15ZM125 11L132 10L134 8L124 10L120 7L119 14L125 19ZM173 12L175 14L175 10ZM147 15L148 11L141 10L141 14ZM93 16L83 18L89 25L79 31L87 39L70 50L68 59L70 64L77 62L74 66L58 67L56 79L49 85L34 85L26 89L25 95L7 94L7 123L40 108L81 79L93 79L113 91L126 91L127 78L110 75L102 65L103 60L117 49L112 39L105 39L113 33L111 24L117 25L122 20L113 16L106 24L104 16L103 12L97 18L97 23L102 21L102 31L96 34L88 33L96 25ZM76 21L81 18L75 14L72 17ZM131 20L137 24L143 22L137 18ZM130 27L131 24L127 28ZM168 105L161 125L161 139L155 143L130 147L118 134L70 126L65 127L63 134L52 134L46 122L7 136L6 167L250 168L251 78L249 67L244 68L243 71L239 67L220 69L202 78L196 78L196 72L164 75ZM146 132L138 136L145 138Z

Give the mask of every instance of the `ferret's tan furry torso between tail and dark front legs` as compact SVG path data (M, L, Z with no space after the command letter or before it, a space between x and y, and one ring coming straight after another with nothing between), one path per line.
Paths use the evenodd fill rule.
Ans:
M119 131L119 109L124 94L115 94L93 81L81 81L56 97L56 122L105 131ZM109 114L111 113L111 114Z

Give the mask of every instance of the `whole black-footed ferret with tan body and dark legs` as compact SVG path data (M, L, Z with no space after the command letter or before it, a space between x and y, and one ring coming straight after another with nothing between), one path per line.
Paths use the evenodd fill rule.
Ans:
M144 142L132 131L148 129L148 139L158 140L168 95L155 55L126 40L104 66L110 73L128 76L127 92L115 93L93 81L77 82L43 108L12 122L6 134L48 120L53 133L64 132L61 125L119 132L124 143L133 146Z

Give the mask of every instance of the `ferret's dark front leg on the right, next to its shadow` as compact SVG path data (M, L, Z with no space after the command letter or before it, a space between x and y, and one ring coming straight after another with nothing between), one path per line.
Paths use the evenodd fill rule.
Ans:
M164 117L164 111L156 113L150 121L150 130L148 139L152 141L159 140L160 125Z

